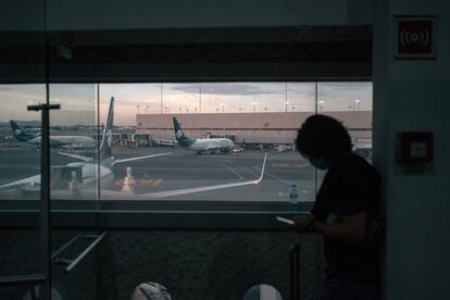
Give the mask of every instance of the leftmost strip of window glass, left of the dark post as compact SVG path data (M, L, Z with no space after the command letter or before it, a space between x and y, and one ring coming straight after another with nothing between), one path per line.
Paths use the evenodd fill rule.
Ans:
M40 197L40 113L43 85L0 85L0 199Z

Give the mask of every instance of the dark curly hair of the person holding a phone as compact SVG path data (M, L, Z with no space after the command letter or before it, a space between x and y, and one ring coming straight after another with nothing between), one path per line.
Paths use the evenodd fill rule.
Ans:
M351 138L342 123L315 114L308 117L297 132L296 147L302 157L333 160L351 151Z

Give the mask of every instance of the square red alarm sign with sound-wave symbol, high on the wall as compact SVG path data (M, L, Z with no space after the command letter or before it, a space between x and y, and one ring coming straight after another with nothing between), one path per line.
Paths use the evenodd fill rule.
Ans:
M436 59L436 16L396 16L397 59Z

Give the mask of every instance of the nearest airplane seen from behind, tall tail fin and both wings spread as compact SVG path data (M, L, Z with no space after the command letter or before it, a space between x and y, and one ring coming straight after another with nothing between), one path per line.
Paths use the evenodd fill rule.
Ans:
M88 158L88 157L84 157L79 154L73 154L73 153L58 152L61 155L70 157L73 159L78 159L82 162L72 162L72 163L68 163L67 165L52 167L52 170L55 170L55 171L67 170L70 172L74 170L79 170L80 171L79 182L82 183L83 187L96 186L96 183L98 183L98 180L100 180L101 183L100 186L109 186L112 184L112 180L114 178L114 173L113 173L114 165L118 163L124 163L124 162L130 162L130 161L137 161L137 160L143 160L143 159L149 159L149 158L157 158L157 157L172 154L172 152L165 152L165 153L158 153L158 154L151 154L151 155L145 155L145 157L115 160L112 155L113 115L114 115L114 98L111 97L110 108L108 112L107 126L103 129L102 141L101 141L100 151L99 151L100 164L96 163L96 161L92 158ZM200 192L200 191L207 191L207 190L216 190L216 189L224 189L224 188L232 188L232 187L247 186L247 185L258 185L263 179L266 159L267 159L267 154L264 155L263 165L261 167L261 175L255 179L251 179L247 182L234 182L234 183L213 185L213 186L203 186L203 187L195 187L195 188L186 188L186 189L176 189L176 190L133 195L133 199L166 198L166 197L193 193L193 192ZM99 172L100 172L100 175L98 175ZM13 188L21 189L21 188L26 188L29 186L36 187L38 185L40 185L40 175L35 175L28 178L24 178L21 180L16 180L10 184L2 185L0 186L0 190L8 190L8 189L13 189ZM124 198L124 195L118 191L101 189L100 192L102 197L107 199L123 199ZM52 190L53 197L58 197L59 195L65 196L66 190L63 190L62 193L55 192L55 190Z

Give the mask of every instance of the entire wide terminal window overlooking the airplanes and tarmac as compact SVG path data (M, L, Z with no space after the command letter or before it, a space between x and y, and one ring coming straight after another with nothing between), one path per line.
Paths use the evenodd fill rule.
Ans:
M0 97L0 163L13 170L0 198L21 199L38 187L17 182L39 174L39 149L14 139L10 121L33 134L39 116L25 107L45 90L4 85ZM372 147L371 83L61 84L51 99L62 105L51 117L53 199L287 202L295 184L314 201L315 170L293 149L314 113L341 120L371 154L359 150Z

